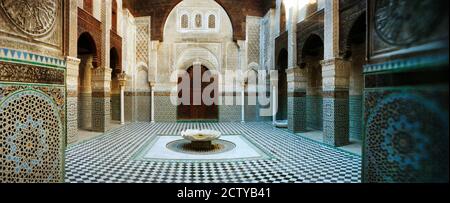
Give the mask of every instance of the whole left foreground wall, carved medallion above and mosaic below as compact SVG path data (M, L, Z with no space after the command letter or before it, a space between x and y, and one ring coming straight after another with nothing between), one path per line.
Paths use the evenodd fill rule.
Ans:
M61 0L0 1L0 182L63 182Z

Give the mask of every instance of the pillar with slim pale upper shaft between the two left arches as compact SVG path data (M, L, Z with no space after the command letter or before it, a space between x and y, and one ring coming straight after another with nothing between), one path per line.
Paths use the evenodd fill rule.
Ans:
M102 61L100 67L92 72L92 130L108 131L111 122L111 68L110 68L110 30L111 30L111 0L105 0L101 6L102 21Z

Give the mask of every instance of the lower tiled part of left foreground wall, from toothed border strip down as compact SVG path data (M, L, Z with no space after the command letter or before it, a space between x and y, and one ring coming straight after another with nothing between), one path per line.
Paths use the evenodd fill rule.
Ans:
M0 52L0 182L63 182L65 61Z

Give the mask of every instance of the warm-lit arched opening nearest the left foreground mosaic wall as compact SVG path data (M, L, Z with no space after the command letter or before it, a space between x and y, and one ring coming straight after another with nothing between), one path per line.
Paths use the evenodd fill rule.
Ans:
M78 58L80 61L78 73L78 128L92 128L92 69L97 66L97 48L89 33L83 33L78 38Z

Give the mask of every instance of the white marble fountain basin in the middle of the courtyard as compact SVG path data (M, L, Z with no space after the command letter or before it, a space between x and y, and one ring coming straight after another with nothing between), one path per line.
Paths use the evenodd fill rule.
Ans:
M218 140L222 133L215 130L185 130L181 136L190 141L190 148L199 151L214 150L213 141Z

